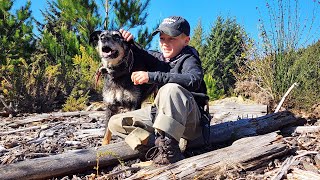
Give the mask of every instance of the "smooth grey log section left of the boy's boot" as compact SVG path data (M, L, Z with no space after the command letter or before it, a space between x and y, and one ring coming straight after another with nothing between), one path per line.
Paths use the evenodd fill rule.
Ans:
M137 156L137 151L133 151L125 142L119 142L97 149L76 150L0 166L0 179L48 179L83 172L97 165L105 167L117 164L120 160Z

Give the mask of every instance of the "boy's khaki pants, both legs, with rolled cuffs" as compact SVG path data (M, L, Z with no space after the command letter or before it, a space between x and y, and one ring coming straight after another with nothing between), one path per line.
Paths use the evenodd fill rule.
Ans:
M161 130L180 141L193 140L201 135L200 111L192 94L175 83L168 83L159 89L154 106L158 112L151 116L151 106L121 113L110 118L108 128L113 135L124 138L136 149L145 144L155 130Z

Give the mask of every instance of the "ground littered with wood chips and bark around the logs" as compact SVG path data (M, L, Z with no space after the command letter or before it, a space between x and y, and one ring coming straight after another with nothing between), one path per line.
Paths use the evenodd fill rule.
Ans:
M221 102L219 102L221 103ZM247 102L242 102L247 103ZM306 118L305 127L320 127L320 118L315 107L311 114L297 114ZM101 110L95 109L95 110ZM5 166L26 159L61 154L70 150L101 146L104 134L104 112L88 111L85 114L64 116L63 113L22 114L16 117L0 117L0 163ZM282 179L320 178L320 132L281 132L285 142L294 152L279 159L270 160L267 166L252 171L233 169L221 172L215 179L271 179L284 171ZM120 141L115 138L113 142ZM125 162L129 166L139 160ZM100 175L116 172L120 165L102 169ZM95 170L81 174L52 179L94 179ZM113 179L122 179L130 174L120 174ZM100 177L100 179L103 177Z

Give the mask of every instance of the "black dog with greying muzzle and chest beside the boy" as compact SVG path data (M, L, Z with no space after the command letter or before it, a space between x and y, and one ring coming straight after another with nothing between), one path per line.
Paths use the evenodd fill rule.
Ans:
M96 82L103 75L103 100L106 104L106 127L112 115L139 109L141 103L155 90L155 85L134 85L131 74L134 71L147 71L141 62L137 44L127 42L119 31L95 31L90 35L90 43L96 45L101 58ZM103 145L109 144L111 132L106 128Z

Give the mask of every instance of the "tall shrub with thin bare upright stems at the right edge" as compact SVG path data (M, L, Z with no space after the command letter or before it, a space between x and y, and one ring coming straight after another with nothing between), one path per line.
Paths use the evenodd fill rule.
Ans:
M317 5L315 1L306 3ZM297 16L299 8L298 0L293 4L290 0L267 3L270 28L260 19L262 46L258 48L254 60L246 62L247 68L242 69L241 77L237 78L240 81L254 81L271 98L273 105L297 82L300 86L290 93L283 106L308 110L312 103L319 102L319 50L314 48L307 53L309 48L301 49L301 42L303 37L309 39L308 33L313 28L317 12L316 9L312 11L311 23L307 25ZM245 89L241 90L238 86L238 91L245 92Z

